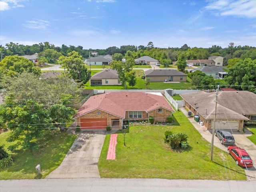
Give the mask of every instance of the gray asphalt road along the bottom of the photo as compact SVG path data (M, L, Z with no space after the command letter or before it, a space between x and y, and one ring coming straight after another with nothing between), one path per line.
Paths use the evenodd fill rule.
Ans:
M255 192L256 181L166 179L1 180L0 192Z

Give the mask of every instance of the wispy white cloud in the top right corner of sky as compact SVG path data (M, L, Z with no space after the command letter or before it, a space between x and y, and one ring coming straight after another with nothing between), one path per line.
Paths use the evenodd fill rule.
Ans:
M256 18L256 1L255 0L217 0L210 2L205 7L207 10L213 10L215 15L220 16L240 16Z

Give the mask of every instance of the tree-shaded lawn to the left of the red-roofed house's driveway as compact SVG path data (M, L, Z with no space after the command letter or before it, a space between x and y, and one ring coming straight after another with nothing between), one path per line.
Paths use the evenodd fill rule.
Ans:
M12 144L6 142L8 134L9 132L0 134L0 145L5 144L5 149ZM12 156L14 163L12 166L0 169L0 180L45 178L61 164L75 138L76 135L66 132L58 132L52 136L49 131L45 134L44 139L40 140L38 151L7 151ZM42 176L39 176L36 171L37 164L41 166Z

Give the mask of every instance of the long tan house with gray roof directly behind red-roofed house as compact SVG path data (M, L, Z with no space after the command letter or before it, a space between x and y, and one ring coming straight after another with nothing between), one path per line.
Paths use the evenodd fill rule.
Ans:
M173 69L146 70L145 79L150 78L150 82L186 82L187 75Z

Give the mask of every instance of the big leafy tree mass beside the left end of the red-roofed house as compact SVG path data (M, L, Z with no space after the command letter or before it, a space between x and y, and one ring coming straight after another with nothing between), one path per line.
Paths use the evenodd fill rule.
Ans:
M38 148L37 139L46 130L63 130L72 121L74 102L81 89L67 76L41 79L24 72L13 78L5 76L5 103L0 105L0 124L11 130L11 147Z

